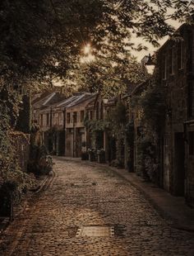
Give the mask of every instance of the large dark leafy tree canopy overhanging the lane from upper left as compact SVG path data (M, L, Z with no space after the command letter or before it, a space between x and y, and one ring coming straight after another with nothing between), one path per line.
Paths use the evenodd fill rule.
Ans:
M12 151L9 130L16 125L23 94L39 83L64 78L74 68L85 42L92 42L100 62L99 76L121 72L118 53L133 45L135 34L153 45L172 34L170 18L191 17L188 0L2 0L0 2L0 152L9 163ZM173 8L173 14L168 10ZM116 61L107 66L106 59ZM101 64L100 64L101 65ZM100 66L99 65L99 66ZM99 67L98 67L99 69ZM95 72L92 71L95 74ZM99 79L99 78L98 78ZM95 79L96 80L96 79ZM104 79L99 79L102 82ZM116 85L116 82L113 84ZM1 163L0 163L1 164ZM13 162L12 162L13 164ZM2 168L2 167L1 167ZM4 164L4 169L5 164Z

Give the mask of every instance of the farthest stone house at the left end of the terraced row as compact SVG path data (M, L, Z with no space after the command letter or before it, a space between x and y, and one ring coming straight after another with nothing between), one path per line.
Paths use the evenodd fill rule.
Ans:
M33 122L39 125L41 143L52 154L64 154L64 146L58 143L64 138L63 108L58 107L62 100L66 97L59 92L44 92L32 102Z

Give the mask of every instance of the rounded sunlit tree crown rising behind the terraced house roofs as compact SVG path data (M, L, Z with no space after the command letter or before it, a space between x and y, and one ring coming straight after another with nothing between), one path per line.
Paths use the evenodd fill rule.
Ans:
M94 62L77 64L74 73L80 90L101 92L109 98L126 92L132 84L146 80L148 73L143 65L131 55L98 56Z

